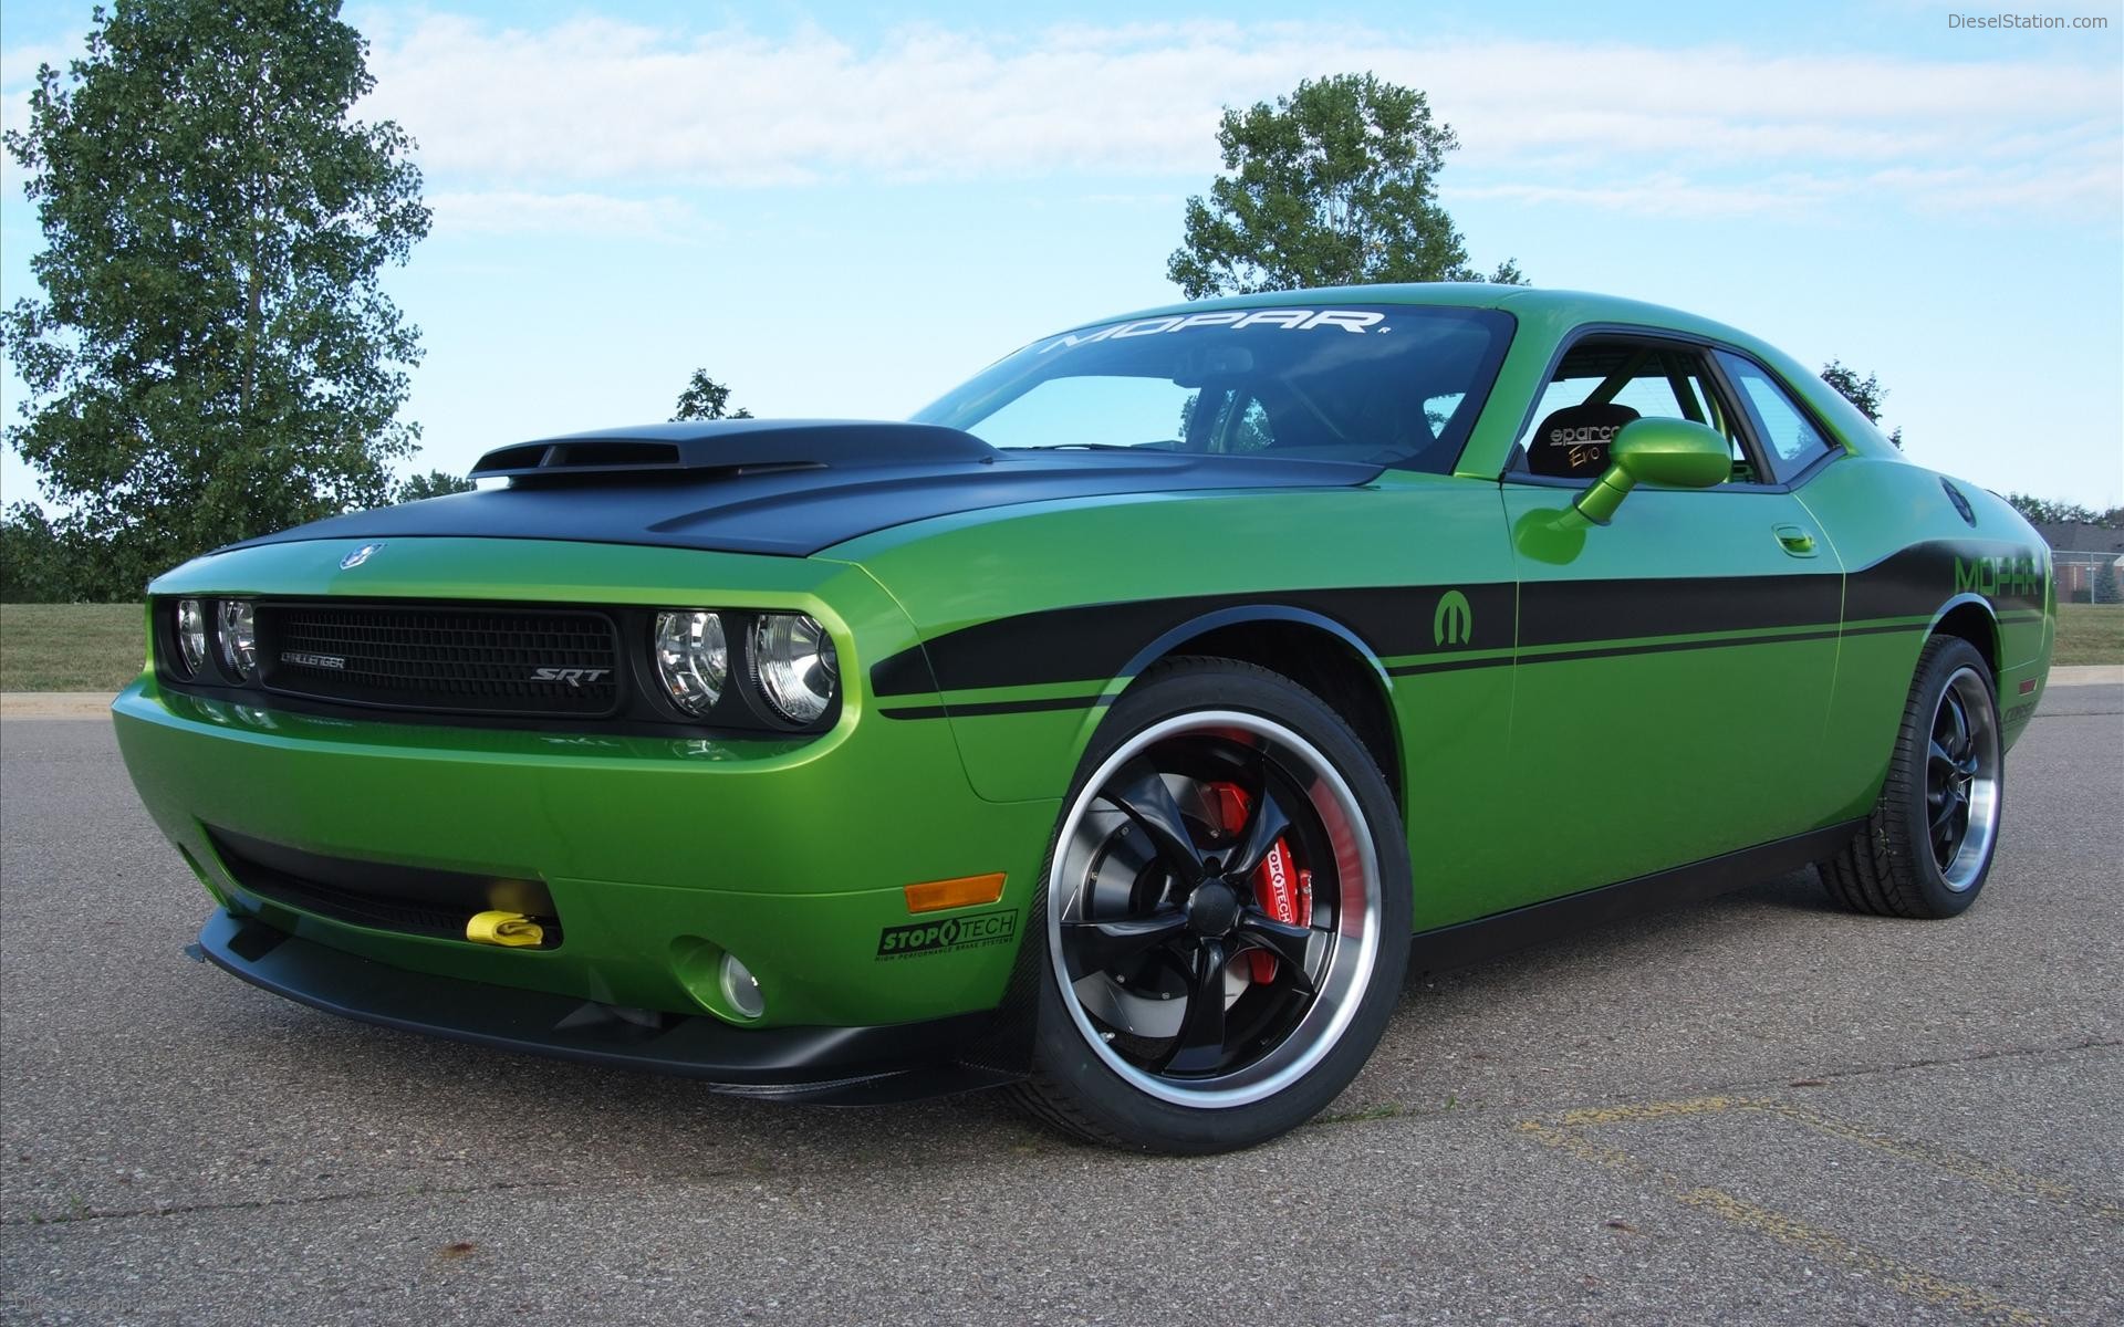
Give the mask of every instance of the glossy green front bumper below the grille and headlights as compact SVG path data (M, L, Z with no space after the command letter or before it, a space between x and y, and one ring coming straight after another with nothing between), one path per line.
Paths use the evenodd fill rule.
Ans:
M856 707L852 707L856 709ZM140 798L215 900L406 972L624 1009L726 1017L714 960L758 977L739 1030L911 1023L994 1009L1054 824L983 803L943 724L847 718L818 741L695 743L246 711L153 677L113 705ZM353 864L535 879L563 941L499 949L263 896L215 832ZM1003 873L983 909L907 909L905 885ZM983 943L886 953L922 919L1009 913Z

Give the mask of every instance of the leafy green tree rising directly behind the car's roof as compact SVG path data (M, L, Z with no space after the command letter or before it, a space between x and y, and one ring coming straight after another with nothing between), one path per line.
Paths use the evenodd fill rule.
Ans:
M1306 81L1277 104L1226 108L1223 170L1189 197L1166 263L1189 299L1381 280L1483 280L1438 206L1459 147L1429 100L1372 74ZM1506 259L1489 280L1525 285Z

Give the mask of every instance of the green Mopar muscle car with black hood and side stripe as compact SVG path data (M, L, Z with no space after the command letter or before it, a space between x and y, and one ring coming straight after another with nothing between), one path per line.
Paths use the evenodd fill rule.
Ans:
M1808 862L1960 913L2056 616L2011 507L1791 357L1517 287L1185 304L909 423L472 473L151 586L115 716L195 955L1175 1153L1315 1115L1412 964Z

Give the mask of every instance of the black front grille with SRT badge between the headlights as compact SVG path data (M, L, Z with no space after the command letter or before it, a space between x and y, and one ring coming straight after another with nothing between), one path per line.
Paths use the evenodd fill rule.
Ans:
M263 684L291 696L503 716L620 707L612 620L590 611L259 603Z

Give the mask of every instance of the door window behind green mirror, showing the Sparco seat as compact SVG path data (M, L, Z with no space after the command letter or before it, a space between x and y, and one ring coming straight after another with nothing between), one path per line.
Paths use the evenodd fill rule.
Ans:
M1733 482L1761 478L1761 467L1742 444L1735 412L1712 386L1703 352L1627 338L1587 338L1563 355L1536 408L1534 427L1519 440L1527 469L1591 480L1608 467L1614 433L1638 418L1706 425L1733 448Z

